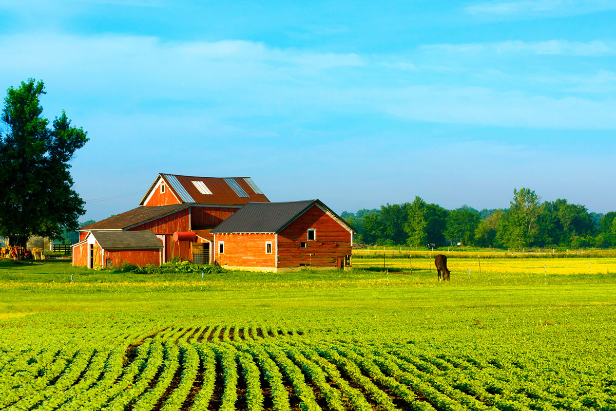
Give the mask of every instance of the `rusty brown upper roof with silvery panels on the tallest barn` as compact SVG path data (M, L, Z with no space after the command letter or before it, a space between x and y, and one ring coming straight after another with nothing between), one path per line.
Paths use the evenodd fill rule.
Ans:
M249 201L269 201L250 177L197 177L179 174L158 174L145 200L163 179L180 203L244 205Z

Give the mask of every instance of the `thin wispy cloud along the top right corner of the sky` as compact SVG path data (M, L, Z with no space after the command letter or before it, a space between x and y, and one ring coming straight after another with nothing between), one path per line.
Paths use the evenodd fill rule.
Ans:
M559 17L614 9L616 4L610 0L522 0L479 2L467 6L464 10L469 14L493 17Z

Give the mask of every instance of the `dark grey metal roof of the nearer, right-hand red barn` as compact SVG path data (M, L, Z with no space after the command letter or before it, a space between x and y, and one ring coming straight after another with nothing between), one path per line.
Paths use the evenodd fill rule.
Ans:
M355 232L338 214L320 200L286 201L284 203L250 202L221 222L211 234L222 233L277 233L313 205L319 205L342 226Z

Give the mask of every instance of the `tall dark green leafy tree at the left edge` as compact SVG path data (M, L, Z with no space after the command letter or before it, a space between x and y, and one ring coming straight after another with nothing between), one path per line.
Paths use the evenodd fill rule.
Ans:
M70 164L87 142L65 112L49 126L39 97L43 81L29 79L10 87L4 99L0 132L0 235L25 246L30 235L57 237L75 230L84 201L71 187Z

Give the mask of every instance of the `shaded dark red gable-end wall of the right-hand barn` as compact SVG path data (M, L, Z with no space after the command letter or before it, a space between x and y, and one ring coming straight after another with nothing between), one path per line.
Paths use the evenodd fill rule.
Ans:
M316 229L314 241L307 241L308 229ZM307 247L300 247L300 242L306 242ZM351 233L317 205L278 233L280 268L299 267L304 264L336 267L337 259L348 255L351 255Z

